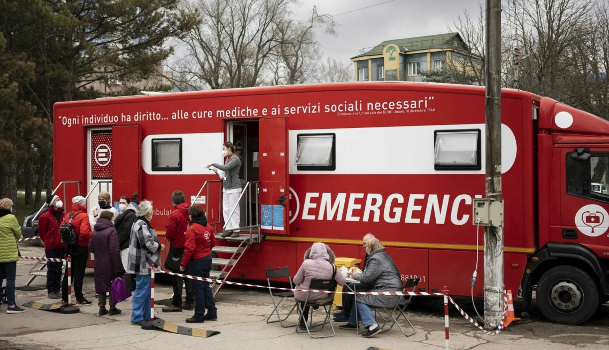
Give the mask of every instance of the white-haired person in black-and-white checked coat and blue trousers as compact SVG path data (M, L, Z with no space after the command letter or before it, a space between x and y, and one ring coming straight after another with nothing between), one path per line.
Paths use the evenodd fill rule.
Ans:
M152 265L160 267L165 245L158 242L157 231L150 225L152 201L141 201L136 214L138 219L133 223L129 238L127 272L136 275L131 323L141 326L150 320L150 275Z

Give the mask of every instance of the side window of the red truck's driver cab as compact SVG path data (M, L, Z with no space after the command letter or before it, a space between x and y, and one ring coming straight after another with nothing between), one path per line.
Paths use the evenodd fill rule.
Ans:
M566 156L567 193L578 197L609 202L609 153L590 153L588 161Z

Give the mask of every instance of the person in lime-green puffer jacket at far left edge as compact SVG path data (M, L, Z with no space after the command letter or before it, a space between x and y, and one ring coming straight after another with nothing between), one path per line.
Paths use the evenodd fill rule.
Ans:
M21 227L13 213L13 201L9 198L0 199L0 289L6 278L6 293L9 309L6 313L21 313L26 310L15 304L15 276L19 260L19 244Z

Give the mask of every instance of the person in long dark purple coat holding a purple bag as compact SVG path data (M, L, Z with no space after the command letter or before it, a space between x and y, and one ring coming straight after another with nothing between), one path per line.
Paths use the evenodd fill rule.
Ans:
M121 310L116 309L111 295L110 312L106 309L106 293L110 292L112 280L125 274L121 262L121 250L118 246L118 233L112 223L112 216L113 213L110 211L99 214L93 235L89 240L89 250L95 254L95 292L100 316L106 314L114 316L121 313Z

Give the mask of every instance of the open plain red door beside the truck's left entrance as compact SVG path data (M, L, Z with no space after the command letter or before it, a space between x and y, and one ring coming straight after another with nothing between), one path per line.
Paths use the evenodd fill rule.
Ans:
M114 163L112 169L112 201L116 210L121 195L138 201L141 195L141 133L139 125L112 128ZM136 197L134 200L133 198ZM135 205L136 203L134 203Z

